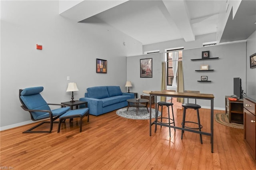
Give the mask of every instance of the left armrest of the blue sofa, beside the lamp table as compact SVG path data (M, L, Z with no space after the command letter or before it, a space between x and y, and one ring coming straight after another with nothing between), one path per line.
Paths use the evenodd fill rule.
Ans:
M88 102L90 114L98 115L97 113L102 113L102 100L89 97L82 97L79 100Z

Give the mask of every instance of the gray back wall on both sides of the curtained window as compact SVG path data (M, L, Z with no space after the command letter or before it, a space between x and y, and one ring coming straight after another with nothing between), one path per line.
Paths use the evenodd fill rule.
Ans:
M191 59L202 58L202 51L210 51L210 57L219 57L219 59L191 61ZM225 110L225 96L233 95L234 77L241 77L242 88L246 89L246 42L185 49L182 54L184 89L213 94L214 109ZM158 63L154 62L153 65L158 67L159 75L156 75L157 79L156 77L153 77L154 79L147 78L147 81L144 82L145 78L139 77L139 59L150 58L153 55L156 57L155 61L158 61ZM143 87L134 88L133 91L142 93L142 90L160 90L161 56L162 54L158 53L127 57L129 60L127 61L127 78L130 77L135 85L141 84L142 81L144 85ZM132 65L134 62L137 64ZM214 69L214 71L195 71L200 69L202 64L208 64L209 69ZM211 82L198 82L203 75L208 76L208 80ZM197 103L203 108L210 109L210 101L198 100Z

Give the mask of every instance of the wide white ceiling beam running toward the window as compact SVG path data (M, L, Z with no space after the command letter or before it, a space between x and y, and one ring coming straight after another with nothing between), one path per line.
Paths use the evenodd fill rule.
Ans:
M195 35L190 25L190 16L184 0L163 0L166 9L170 13L172 20L174 20L180 34L184 38L185 42L195 40ZM168 18L166 18L168 19Z

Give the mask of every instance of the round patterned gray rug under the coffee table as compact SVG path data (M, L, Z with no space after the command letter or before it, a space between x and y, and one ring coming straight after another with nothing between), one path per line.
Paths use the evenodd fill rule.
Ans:
M149 119L149 108L147 110L146 107L140 107L138 110L138 115L136 115L136 108L129 107L127 111L127 107L119 109L116 111L116 115L120 117L124 117L127 119ZM151 118L155 118L156 110L151 109ZM158 117L161 115L161 112L158 112Z

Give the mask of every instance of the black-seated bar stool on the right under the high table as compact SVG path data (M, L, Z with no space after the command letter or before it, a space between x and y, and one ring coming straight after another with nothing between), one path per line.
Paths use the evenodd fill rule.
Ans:
M200 93L200 91L184 91L184 93ZM200 109L201 106L196 104L196 99L195 99L195 103L184 103L184 104L182 104L182 107L184 108L184 110L183 110L183 119L182 119L182 123L181 123L182 128L186 127L185 123L195 123L196 125L198 125L198 128L192 128L192 127L186 127L186 128L199 129L199 131L201 131L201 128L203 128L203 126L200 124L200 117L199 117L199 111L198 111L198 109ZM196 110L198 122L185 121L185 119L186 119L186 109ZM183 133L184 133L184 130L182 130L181 139L183 138ZM201 142L201 144L203 143L202 134L200 134L200 142Z

